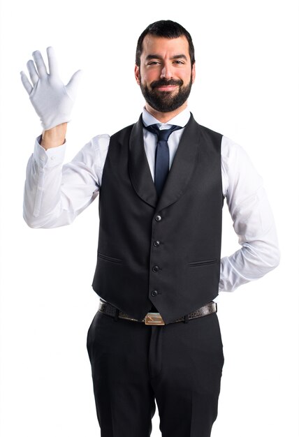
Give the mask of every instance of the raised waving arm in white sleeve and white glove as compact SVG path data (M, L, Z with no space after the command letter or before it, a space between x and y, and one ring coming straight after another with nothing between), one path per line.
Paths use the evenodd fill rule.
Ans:
M31 82L22 71L21 79L41 119L43 134L36 138L34 153L27 164L24 186L24 220L31 228L54 228L71 223L96 197L101 178L100 148L107 135L92 139L63 165L66 126L78 89L81 71L65 86L59 78L57 61L48 47L49 72L41 53L27 62Z

